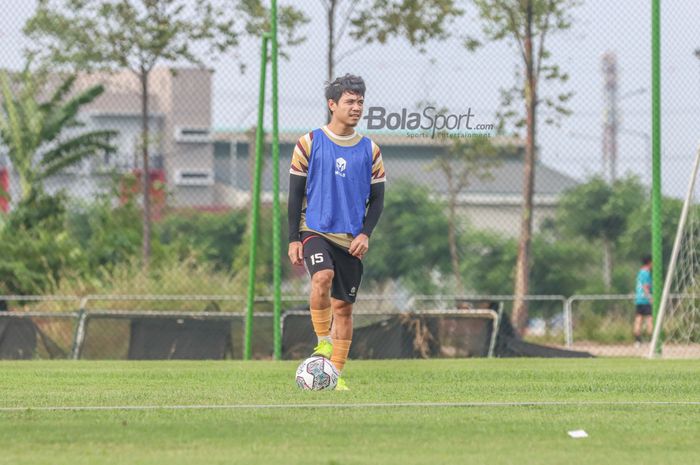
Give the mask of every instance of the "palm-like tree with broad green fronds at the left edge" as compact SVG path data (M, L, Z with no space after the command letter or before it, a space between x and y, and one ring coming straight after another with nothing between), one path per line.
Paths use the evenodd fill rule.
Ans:
M46 178L59 174L85 158L114 147L109 140L115 131L87 131L66 135L82 126L78 112L83 105L97 98L104 88L93 86L71 96L75 75L65 77L48 100L40 95L49 90L41 72L30 71L29 65L11 82L6 72L0 73L2 111L0 141L17 172L22 190L20 202L29 203L43 191Z

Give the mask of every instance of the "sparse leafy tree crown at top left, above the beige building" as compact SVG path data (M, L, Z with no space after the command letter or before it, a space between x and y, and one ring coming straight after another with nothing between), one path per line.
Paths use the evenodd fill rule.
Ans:
M78 69L97 66L148 72L161 59L200 63L191 50L199 41L215 39L212 49L237 44L233 20L223 10L197 0L199 15L189 19L186 3L42 0L24 32L35 41L42 58Z

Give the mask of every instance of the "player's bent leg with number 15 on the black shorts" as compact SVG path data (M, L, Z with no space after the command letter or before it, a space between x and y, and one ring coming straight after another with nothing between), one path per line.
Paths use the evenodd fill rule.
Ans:
M319 236L302 236L304 243L304 264L311 275L311 292L309 308L311 323L318 338L318 345L313 355L330 359L333 351L330 335L333 311L331 309L330 290L333 283L333 259L328 244Z

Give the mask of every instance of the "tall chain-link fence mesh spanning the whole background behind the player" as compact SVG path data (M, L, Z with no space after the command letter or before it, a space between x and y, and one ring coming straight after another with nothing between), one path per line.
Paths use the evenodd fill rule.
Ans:
M71 18L62 24L87 28L81 18L97 20L91 5L98 3L114 2L85 2L77 10L63 0L43 5ZM148 17L141 0L124 3ZM258 295L273 291L272 172L279 170L286 202L298 140L328 122L326 81L353 73L367 86L365 118L357 129L380 147L387 177L384 212L364 259L358 314L457 310L454 296L500 296L493 300L500 310L489 308L512 321L525 342L596 355L608 355L597 344L615 344L620 348L611 352L637 354L635 309L618 296L634 291L639 259L651 252L648 7L636 0L567 0L553 2L558 9L537 18L534 57L542 61L536 67L536 150L529 154L527 125L521 124L525 96L532 93L524 91L523 37L493 23L499 15L487 18L482 7L491 2L279 3L281 163L271 166L268 78ZM503 4L491 6L496 3ZM50 14L38 14L37 2L4 2L0 293L92 295L86 306L58 309L82 308L89 315L81 317L88 335L79 349L83 358L128 356L134 320L119 312L142 311L219 312L218 320L212 318L230 324L231 356L241 353L238 313L248 282L260 28L267 22L260 16L264 9L234 4L220 12L221 20L233 18L236 33L225 47L192 40L189 57L156 57L150 69L137 66L144 55L136 54L122 62L127 69L114 66L114 50L100 42L99 31L83 49L101 50L101 61L79 53L80 46L49 46L65 37ZM181 19L204 18L183 11ZM550 29L541 34L547 17ZM663 5L664 262L700 139L698 23L697 2ZM503 27L510 40L485 32ZM223 51L212 55L211 49ZM33 61L27 50L39 52ZM23 72L28 63L31 72ZM73 65L93 72L80 71L68 81L64 72ZM63 84L66 92L56 94ZM68 104L76 96L80 104ZM285 213L281 220L284 258ZM282 268L284 310L305 308L306 272L286 259ZM514 300L503 296L518 292L516 281L524 294L557 297L526 299L527 313L513 319ZM212 297L125 297L194 294ZM612 300L567 301L581 294ZM47 305L11 307L55 311ZM265 316L271 311L271 299L256 301L255 328L271 328ZM77 320L66 317L50 328L40 313L22 315L34 322L37 341L49 335L60 348L55 353L75 353ZM91 345L89 335L101 331L114 342ZM256 336L264 341L257 356L270 355L268 337ZM48 347L41 350L41 357L51 356Z

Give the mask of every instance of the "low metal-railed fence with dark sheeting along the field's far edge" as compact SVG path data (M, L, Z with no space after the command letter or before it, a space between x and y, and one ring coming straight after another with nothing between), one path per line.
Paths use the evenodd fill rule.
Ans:
M366 296L354 309L352 358L642 356L634 345L633 295L526 296L532 323L517 335L513 296ZM680 298L675 296L676 300ZM240 359L242 296L8 296L0 312L5 359ZM256 298L261 309L271 297ZM285 296L282 354L301 358L315 336L305 296ZM252 355L273 355L273 314L254 313ZM673 324L677 319L669 319ZM675 338L666 357L697 356L697 344Z

